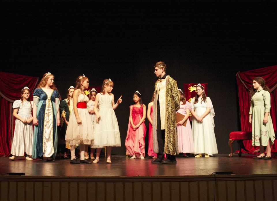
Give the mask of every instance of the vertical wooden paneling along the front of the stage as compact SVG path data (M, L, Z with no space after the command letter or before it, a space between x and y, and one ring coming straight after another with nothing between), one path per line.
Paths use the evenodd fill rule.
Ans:
M188 182L1 181L1 200L154 201L276 200L277 180ZM216 189L214 189L216 187Z

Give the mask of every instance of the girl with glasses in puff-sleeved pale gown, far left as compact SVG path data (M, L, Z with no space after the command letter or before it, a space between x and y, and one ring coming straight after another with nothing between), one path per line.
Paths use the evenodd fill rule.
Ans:
M12 148L10 157L14 160L15 156L24 156L26 153L26 160L33 160L32 147L33 147L33 101L30 99L30 90L24 87L21 90L20 100L14 101L12 108L14 109L13 115L16 118L14 126L14 138L12 141Z

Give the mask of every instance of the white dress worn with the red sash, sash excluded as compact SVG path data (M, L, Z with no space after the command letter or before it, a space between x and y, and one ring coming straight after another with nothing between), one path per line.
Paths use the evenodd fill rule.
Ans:
M78 96L78 103L79 102L88 102L89 98L84 95L80 94ZM90 145L93 142L93 126L91 119L89 117L89 112L87 108L77 108L79 117L82 120L82 124L77 123L77 119L75 116L74 111L70 115L68 126L65 133L65 141L70 145L76 144L84 144Z

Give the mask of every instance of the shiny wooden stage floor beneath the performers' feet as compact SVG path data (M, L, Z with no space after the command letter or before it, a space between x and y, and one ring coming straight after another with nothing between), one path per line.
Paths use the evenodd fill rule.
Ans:
M122 155L112 155L112 164L103 157L98 164L70 164L70 160L60 159L42 162L41 159L26 161L16 157L11 161L1 157L0 174L25 172L33 177L184 177L209 176L213 172L232 171L233 175L277 175L277 157L272 160L253 160L253 155L216 154L213 157L177 157L177 164L152 164L151 158L130 159Z

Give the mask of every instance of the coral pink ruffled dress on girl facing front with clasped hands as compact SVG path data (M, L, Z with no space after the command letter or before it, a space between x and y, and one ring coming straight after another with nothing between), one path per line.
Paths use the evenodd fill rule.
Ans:
M136 125L140 122L143 117L143 105L141 107L130 106L130 117L132 115L133 124ZM125 140L126 146L126 154L133 156L136 153L136 157L140 158L140 155L145 156L145 134L146 134L146 126L144 122L141 123L139 128L133 130L129 117L129 125L127 136Z

